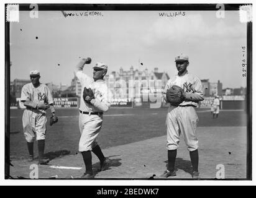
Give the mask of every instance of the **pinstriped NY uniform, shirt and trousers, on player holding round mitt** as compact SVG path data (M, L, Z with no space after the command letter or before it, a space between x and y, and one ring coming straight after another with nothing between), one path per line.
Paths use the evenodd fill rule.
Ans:
M196 93L199 97L203 98L203 84L196 75L187 72L183 76L175 75L168 80L163 94L165 100L165 93L173 85L183 88L186 93ZM194 99L193 101L185 100L179 106L170 105L168 108L166 119L168 150L178 149L180 134L183 136L189 151L198 149L196 127L199 120L194 109L197 106L198 101Z

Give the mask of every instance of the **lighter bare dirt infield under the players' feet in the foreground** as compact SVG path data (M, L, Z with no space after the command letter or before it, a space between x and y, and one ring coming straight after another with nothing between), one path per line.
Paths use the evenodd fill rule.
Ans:
M216 178L217 165L224 165L226 179L246 178L246 129L245 127L199 127L199 171L202 179ZM204 140L204 141L203 141ZM165 136L142 140L125 145L104 149L103 152L112 160L109 169L99 172L98 159L93 155L93 170L96 179L155 179L167 165ZM29 178L30 165L36 162L14 160L11 167L13 178ZM81 168L80 170L58 169ZM189 152L183 140L180 142L176 158L177 176L168 179L191 179ZM57 176L58 179L79 178L85 167L80 154L55 158L49 165L39 166L39 178Z

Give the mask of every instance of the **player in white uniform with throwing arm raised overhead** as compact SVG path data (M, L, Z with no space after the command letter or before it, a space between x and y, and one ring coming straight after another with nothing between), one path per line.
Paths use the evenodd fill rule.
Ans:
M111 161L104 157L101 148L96 142L103 124L103 112L109 110L110 107L110 91L104 81L104 75L107 73L107 65L97 62L93 67L93 79L83 73L85 64L91 62L90 58L81 59L75 69L75 75L80 80L83 94L80 100L80 141L79 151L83 156L86 171L81 178L94 178L92 169L91 151L99 158L101 171L106 170Z

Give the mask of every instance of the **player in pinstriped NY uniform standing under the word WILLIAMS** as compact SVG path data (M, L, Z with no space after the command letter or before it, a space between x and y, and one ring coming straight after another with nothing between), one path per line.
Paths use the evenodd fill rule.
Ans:
M167 101L166 93L173 85L183 88L184 101L180 105L170 105L168 108L167 125L167 149L168 149L168 168L161 177L168 178L176 176L175 159L180 142L180 134L185 140L187 149L190 152L191 163L193 166L193 178L199 178L198 172L198 138L196 136L196 126L198 116L194 109L198 102L204 100L203 84L196 75L187 71L188 56L180 54L175 58L178 74L171 77L165 86L163 97Z

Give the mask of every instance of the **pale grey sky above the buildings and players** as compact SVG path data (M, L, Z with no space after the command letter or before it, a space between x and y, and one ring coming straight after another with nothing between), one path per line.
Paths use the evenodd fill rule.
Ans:
M246 87L242 77L242 46L246 46L246 24L238 11L66 11L79 16L64 17L60 11L39 11L37 19L21 11L19 23L10 24L11 80L29 79L39 69L41 82L71 84L80 58L90 57L84 72L92 76L96 62L105 62L109 73L119 68L176 75L175 56L188 54L188 71L223 88ZM184 13L185 14L184 14ZM80 15L82 14L82 16ZM37 37L37 39L36 39ZM140 64L143 63L143 66Z

